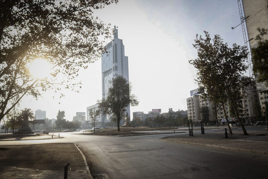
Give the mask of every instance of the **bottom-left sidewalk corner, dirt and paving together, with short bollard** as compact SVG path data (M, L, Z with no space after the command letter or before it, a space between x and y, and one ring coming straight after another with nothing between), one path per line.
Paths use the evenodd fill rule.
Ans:
M92 178L83 153L73 143L1 145L0 178ZM85 165L86 164L86 165Z

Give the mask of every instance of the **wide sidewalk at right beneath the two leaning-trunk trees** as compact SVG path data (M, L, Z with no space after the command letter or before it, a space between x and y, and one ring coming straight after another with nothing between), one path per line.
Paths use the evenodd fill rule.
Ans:
M228 138L225 138L224 130L210 131L206 129L209 128L205 128L205 134L201 134L201 130L194 130L193 136L189 136L188 133L188 135L169 136L163 139L177 143L268 154L267 130L248 132L250 135L244 136L241 128L232 129L233 134L228 134ZM260 134L263 136L259 136Z

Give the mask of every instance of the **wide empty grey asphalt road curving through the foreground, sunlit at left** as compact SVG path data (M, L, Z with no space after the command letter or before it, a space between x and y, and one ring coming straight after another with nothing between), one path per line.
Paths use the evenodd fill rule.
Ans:
M162 140L170 135L188 133L129 137L61 133L61 139L1 141L0 145L76 143L87 158L92 176L105 173L109 178L267 178L268 155Z

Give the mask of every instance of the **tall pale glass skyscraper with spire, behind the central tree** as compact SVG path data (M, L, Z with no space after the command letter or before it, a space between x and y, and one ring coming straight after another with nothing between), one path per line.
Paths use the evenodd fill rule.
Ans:
M105 48L107 53L102 55L102 97L105 98L109 88L109 81L118 75L128 79L128 57L125 56L125 47L122 39L118 39L118 31L114 26L114 39ZM130 114L129 106L126 112ZM109 116L103 116L102 122L109 122ZM124 123L122 120L120 124Z

